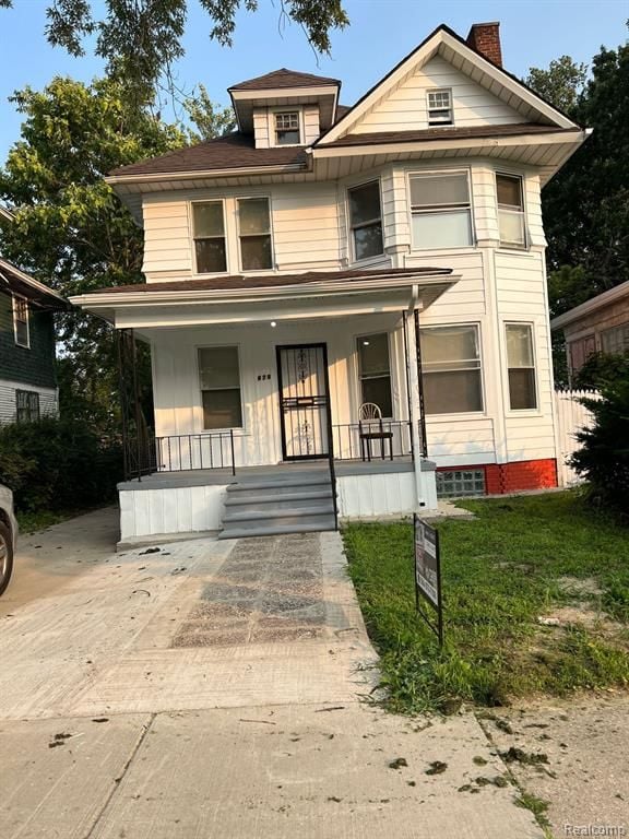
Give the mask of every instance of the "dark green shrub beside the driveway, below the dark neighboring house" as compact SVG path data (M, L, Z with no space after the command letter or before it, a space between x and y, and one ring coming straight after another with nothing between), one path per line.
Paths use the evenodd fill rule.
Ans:
M45 417L0 428L0 483L22 512L108 501L121 476L120 446L100 440L83 421Z

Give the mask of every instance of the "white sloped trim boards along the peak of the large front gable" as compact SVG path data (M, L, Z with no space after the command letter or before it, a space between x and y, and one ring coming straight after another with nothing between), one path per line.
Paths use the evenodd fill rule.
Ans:
M446 24L441 24L425 38L418 47L403 58L387 75L377 82L358 102L337 120L313 144L324 145L349 133L363 115L384 98L387 93L393 90L408 74L426 63L437 52L441 52L446 60L452 63L452 57L458 58L458 67L462 72L462 66L467 64L475 71L478 84L491 88L494 95L510 95L509 105L522 108L529 117L535 115L541 122L559 128L574 128L575 123L562 114L558 108L547 103L539 94L532 91L512 73L490 61L486 56L473 49L463 38ZM531 119L531 121L534 121Z

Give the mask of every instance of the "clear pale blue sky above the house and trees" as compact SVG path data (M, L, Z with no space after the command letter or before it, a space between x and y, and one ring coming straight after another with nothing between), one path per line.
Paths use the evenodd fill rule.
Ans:
M341 79L341 99L351 105L440 23L465 36L474 22L500 21L505 67L517 75L566 54L590 62L602 44L614 48L628 36L627 0L345 0L351 26L333 35L331 58L317 59L299 28L280 25L278 0L259 2L258 13L239 14L229 49L209 39L205 13L190 0L180 86L203 82L227 104L230 84L288 67ZM47 45L47 4L14 0L13 9L0 10L0 162L20 137L20 115L8 102L14 90L39 90L54 75L88 81L102 70L92 56L75 59Z

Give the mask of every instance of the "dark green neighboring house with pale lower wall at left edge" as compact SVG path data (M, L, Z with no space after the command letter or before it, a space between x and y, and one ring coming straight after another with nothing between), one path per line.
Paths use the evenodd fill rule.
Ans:
M11 213L0 208L2 218ZM63 297L0 258L0 425L57 414L52 312Z

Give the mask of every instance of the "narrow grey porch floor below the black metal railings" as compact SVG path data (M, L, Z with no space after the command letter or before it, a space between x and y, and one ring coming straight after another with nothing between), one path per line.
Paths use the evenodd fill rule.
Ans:
M422 470L435 469L431 461L423 460ZM327 460L310 460L296 463L275 463L263 466L237 466L236 475L232 474L230 469L195 469L182 470L181 472L154 472L151 475L144 475L141 481L124 481L118 484L118 489L168 489L177 486L211 486L226 485L235 483L246 483L247 481L277 481L284 478L298 477L300 474L311 474L312 472L328 473L329 466ZM347 475L375 475L395 472L412 472L413 458L395 458L394 460L335 460L334 470L336 477Z

